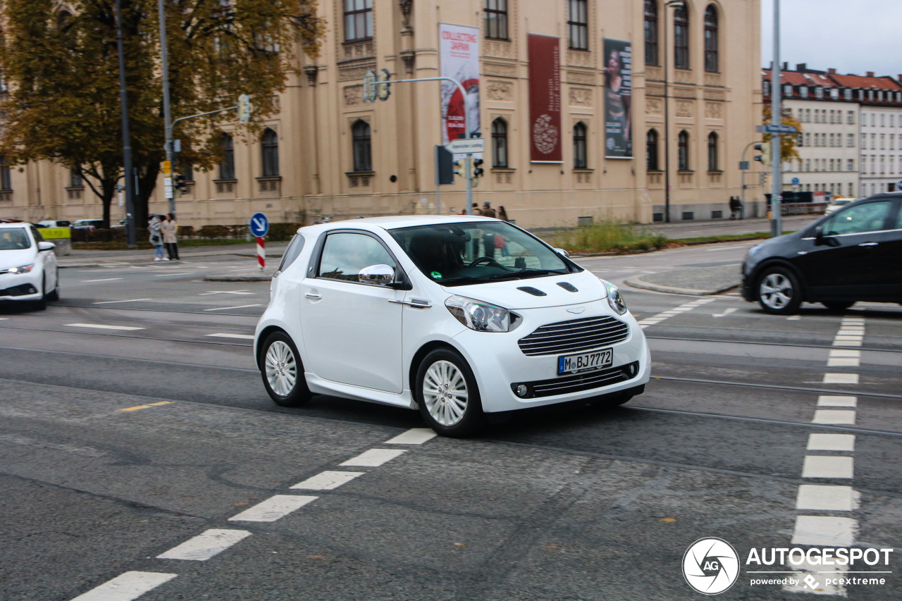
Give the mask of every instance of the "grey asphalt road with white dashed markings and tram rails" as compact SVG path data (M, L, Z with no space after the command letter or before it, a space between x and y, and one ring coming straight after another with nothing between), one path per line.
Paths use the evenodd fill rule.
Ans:
M748 244L580 263L621 283L738 263ZM653 352L645 394L425 439L414 411L274 405L250 353L268 284L201 279L246 264L66 269L48 310L0 307L0 598L698 599L684 553L719 537L741 563L724 599L796 599L751 584L805 576L747 565L752 548L898 546L902 307L787 319L624 287ZM356 463L381 465L341 466L372 449ZM358 476L291 488L324 471ZM847 506L813 508L812 485ZM293 505L261 521L264 501ZM902 598L889 555L844 574L885 584L822 568L816 587Z

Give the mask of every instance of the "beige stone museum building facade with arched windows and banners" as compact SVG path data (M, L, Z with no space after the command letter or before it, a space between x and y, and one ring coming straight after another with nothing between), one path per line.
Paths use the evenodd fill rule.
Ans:
M240 224L258 210L299 222L460 212L464 180L439 198L434 166L435 146L455 132L454 94L394 83L369 103L363 81L382 69L393 81L441 77L464 41L476 59L451 75L486 143L474 202L504 206L527 227L665 220L667 205L673 221L725 217L760 122L759 9L759 0L325 0L320 56L299 53L261 138L223 126L226 160L189 173L179 223ZM464 36L450 50L449 31ZM554 72L547 85L539 63ZM557 97L547 121L536 115L543 87ZM537 160L543 145L552 160ZM83 182L51 165L29 165L9 185L3 217L100 214ZM166 207L160 182L151 210Z

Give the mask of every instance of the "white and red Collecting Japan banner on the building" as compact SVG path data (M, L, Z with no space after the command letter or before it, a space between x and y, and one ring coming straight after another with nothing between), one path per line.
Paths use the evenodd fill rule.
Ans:
M442 143L466 134L466 138L482 137L479 124L479 28L438 23L438 52L443 78L455 79L464 87L442 81ZM470 131L465 132L469 121Z

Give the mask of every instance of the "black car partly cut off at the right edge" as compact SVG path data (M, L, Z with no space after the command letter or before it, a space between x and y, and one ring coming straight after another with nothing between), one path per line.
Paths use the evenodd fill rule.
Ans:
M832 310L856 301L902 303L902 193L856 200L751 247L742 296L778 315L795 313L802 301Z

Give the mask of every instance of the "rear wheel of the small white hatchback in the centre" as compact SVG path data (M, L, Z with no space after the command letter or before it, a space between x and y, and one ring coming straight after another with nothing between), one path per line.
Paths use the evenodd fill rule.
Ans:
M272 332L263 341L260 373L270 398L282 407L299 407L310 400L298 349L284 332Z

